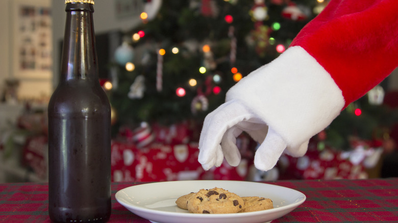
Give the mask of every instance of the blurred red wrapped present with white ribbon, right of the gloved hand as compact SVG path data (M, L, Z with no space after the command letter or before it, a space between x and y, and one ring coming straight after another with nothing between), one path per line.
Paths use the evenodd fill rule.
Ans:
M382 148L364 147L364 142L356 142L350 151L330 147L319 150L310 144L302 157L283 155L278 163L281 179L364 179L368 178L366 169L379 161Z

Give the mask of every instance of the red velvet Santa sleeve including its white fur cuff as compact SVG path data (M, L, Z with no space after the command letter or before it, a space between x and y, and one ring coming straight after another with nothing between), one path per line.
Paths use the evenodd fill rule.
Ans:
M332 0L226 100L241 101L288 147L300 147L398 66L397 12L397 0Z

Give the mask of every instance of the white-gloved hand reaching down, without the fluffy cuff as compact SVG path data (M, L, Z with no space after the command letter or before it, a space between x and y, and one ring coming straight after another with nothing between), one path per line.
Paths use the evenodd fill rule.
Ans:
M263 171L271 169L287 143L239 100L222 104L206 117L199 144L199 148L204 149L201 149L198 159L203 168L209 170L214 165L220 166L224 157L230 165L237 166L241 156L236 147L236 137L242 131L261 144L255 155L255 166ZM308 141L290 154L304 155L307 145Z

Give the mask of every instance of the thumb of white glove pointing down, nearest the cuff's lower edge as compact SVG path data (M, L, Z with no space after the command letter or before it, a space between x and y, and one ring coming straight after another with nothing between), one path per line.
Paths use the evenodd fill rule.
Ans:
M268 171L278 162L287 144L282 137L272 129L268 129L268 134L264 142L256 151L254 165L261 171Z

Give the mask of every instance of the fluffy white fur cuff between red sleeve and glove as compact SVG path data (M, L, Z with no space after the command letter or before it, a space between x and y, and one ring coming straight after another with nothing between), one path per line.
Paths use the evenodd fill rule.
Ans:
M227 93L274 129L290 147L299 147L326 128L344 106L330 74L300 46L241 79Z

